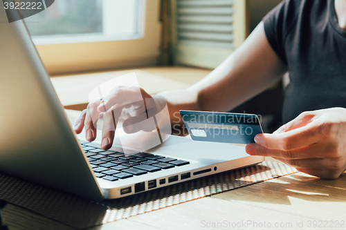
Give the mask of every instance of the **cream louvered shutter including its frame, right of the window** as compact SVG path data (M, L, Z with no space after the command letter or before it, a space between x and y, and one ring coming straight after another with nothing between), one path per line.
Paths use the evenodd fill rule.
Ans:
M241 1L176 0L175 62L215 68L226 59L237 46L235 23L246 17L236 12Z

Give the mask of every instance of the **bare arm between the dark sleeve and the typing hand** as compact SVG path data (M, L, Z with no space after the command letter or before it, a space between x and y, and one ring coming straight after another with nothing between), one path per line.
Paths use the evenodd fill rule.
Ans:
M286 65L268 44L261 22L251 35L208 76L185 90L159 93L167 101L172 123L180 109L230 111L271 86L286 72Z

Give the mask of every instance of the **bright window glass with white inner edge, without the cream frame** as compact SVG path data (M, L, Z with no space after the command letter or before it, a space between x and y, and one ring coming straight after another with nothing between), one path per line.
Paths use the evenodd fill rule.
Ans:
M140 0L58 0L24 21L35 44L138 39L142 5Z

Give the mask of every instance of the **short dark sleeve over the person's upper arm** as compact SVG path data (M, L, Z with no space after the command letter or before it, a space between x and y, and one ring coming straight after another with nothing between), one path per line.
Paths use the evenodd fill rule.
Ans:
M299 12L298 8L297 1L282 1L262 19L268 43L285 64L287 59L284 39L294 25L296 12Z

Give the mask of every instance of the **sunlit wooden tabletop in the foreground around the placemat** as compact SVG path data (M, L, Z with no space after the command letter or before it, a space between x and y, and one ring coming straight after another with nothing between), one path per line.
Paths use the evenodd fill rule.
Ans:
M67 113L71 123L79 114L76 111ZM346 229L345 202L345 173L337 180L320 180L295 173L89 230ZM72 229L12 204L3 209L3 216L10 229Z

